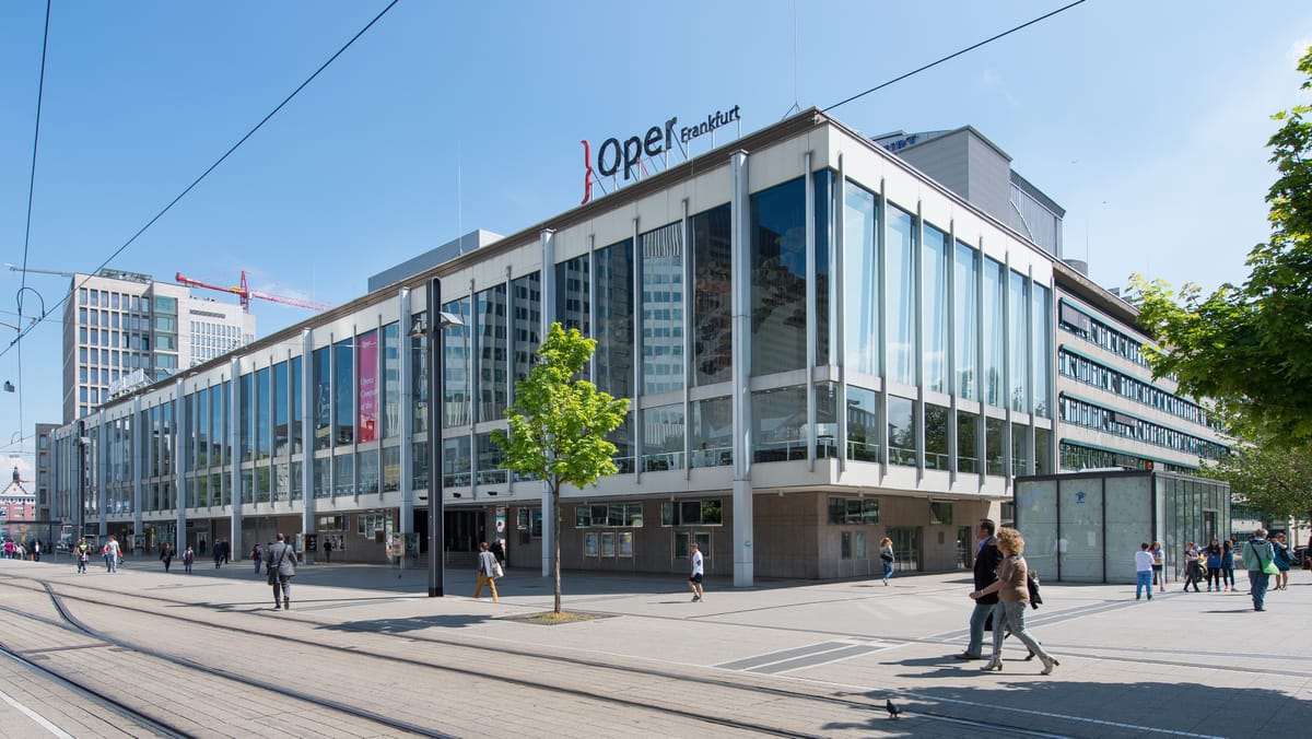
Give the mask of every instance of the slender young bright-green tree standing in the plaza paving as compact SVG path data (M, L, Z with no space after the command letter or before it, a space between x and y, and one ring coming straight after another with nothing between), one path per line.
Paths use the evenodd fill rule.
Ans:
M506 408L509 433L493 431L505 454L501 467L544 480L551 492L551 541L555 545L556 606L560 613L560 487L596 484L618 471L615 445L606 434L625 420L628 399L611 398L581 379L596 339L577 328L551 324L529 377L514 383L514 406Z

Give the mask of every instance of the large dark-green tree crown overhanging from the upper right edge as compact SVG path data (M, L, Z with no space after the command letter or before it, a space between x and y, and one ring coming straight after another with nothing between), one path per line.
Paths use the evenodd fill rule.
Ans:
M1299 60L1312 89L1312 49ZM1241 286L1203 298L1186 284L1178 295L1139 274L1130 299L1157 345L1145 348L1153 373L1219 404L1232 431L1291 448L1312 444L1312 105L1273 116L1270 161L1279 179L1266 196L1271 238L1248 255Z

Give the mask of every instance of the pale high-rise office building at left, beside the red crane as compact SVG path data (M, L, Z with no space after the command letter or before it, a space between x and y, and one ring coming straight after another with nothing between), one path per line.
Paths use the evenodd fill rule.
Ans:
M64 302L64 423L255 340L255 316L148 274L75 274Z

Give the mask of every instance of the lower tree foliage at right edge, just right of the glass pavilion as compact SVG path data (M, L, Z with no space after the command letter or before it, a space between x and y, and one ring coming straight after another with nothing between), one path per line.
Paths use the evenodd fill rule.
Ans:
M1245 445L1198 473L1231 484L1231 492L1270 518L1312 517L1312 449Z

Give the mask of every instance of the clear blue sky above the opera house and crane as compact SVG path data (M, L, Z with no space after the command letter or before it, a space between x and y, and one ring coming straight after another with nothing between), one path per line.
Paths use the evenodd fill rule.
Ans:
M110 266L218 284L245 269L341 303L461 232L577 205L583 138L733 105L752 131L1064 4L401 0ZM28 265L97 268L386 5L56 0ZM45 12L0 3L5 263L22 260ZM1067 256L1097 282L1214 287L1242 280L1269 234L1270 114L1305 101L1309 45L1308 3L1089 0L833 114L871 135L974 125L1068 210ZM0 322L17 322L20 286L0 272ZM28 286L52 307L68 281ZM253 312L261 335L308 318ZM22 340L0 454L62 420L58 315ZM18 356L0 357L14 385Z

